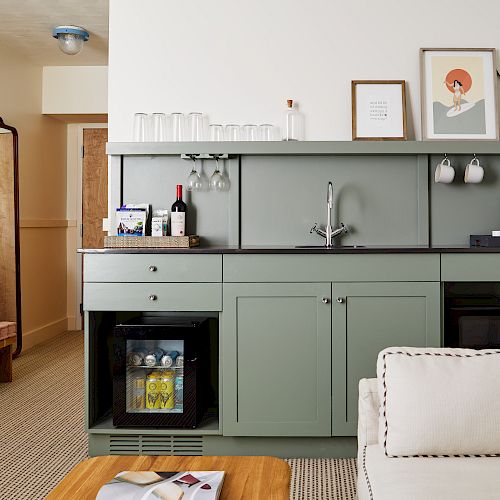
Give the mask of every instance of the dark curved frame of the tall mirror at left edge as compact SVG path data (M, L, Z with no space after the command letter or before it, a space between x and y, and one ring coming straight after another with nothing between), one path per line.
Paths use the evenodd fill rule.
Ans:
M17 129L7 125L0 116L0 128L10 130L12 133L12 147L14 159L14 249L16 256L16 323L17 323L17 346L12 354L17 358L23 348L23 329L21 313L21 252L19 245L19 136Z

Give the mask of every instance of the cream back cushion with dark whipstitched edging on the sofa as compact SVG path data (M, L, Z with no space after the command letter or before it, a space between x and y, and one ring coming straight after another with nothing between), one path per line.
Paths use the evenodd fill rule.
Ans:
M393 347L377 360L389 457L500 454L500 351Z

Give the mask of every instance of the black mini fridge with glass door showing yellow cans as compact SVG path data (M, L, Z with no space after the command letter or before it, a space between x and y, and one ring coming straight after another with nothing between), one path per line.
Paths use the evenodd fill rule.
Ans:
M113 425L196 428L210 399L208 318L139 317L114 328Z

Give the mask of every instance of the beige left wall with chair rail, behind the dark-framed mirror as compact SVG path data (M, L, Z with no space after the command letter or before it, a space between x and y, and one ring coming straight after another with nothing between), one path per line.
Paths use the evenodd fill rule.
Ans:
M25 348L67 328L66 124L42 116L42 67L0 46L0 116L19 132Z

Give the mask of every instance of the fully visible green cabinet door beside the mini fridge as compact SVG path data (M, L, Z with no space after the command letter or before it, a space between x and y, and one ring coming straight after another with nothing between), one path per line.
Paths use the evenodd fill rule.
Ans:
M331 435L330 298L330 283L224 284L224 435Z

